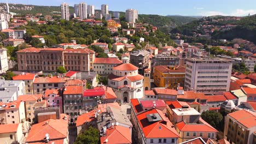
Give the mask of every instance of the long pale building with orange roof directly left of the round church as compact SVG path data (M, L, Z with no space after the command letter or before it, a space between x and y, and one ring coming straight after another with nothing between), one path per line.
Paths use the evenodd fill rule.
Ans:
M109 75L113 71L113 67L123 62L117 58L95 58L93 69L96 74Z

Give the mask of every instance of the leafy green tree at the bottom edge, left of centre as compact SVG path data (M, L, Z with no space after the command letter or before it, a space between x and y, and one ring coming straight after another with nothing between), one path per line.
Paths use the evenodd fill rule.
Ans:
M98 130L90 127L78 135L74 144L98 144L98 142L100 142Z

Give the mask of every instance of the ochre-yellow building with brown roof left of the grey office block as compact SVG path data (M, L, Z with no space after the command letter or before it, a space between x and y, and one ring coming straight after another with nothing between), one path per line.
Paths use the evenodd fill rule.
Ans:
M167 87L168 89L184 87L185 66L158 65L154 67L153 78L156 87Z

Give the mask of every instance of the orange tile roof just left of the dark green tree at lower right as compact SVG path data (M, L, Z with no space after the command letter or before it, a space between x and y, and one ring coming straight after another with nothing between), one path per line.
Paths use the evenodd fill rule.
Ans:
M203 121L200 118L202 123L185 123L184 121L176 124L176 127L181 131L202 131L202 132L218 132L218 130L214 129L210 124Z

